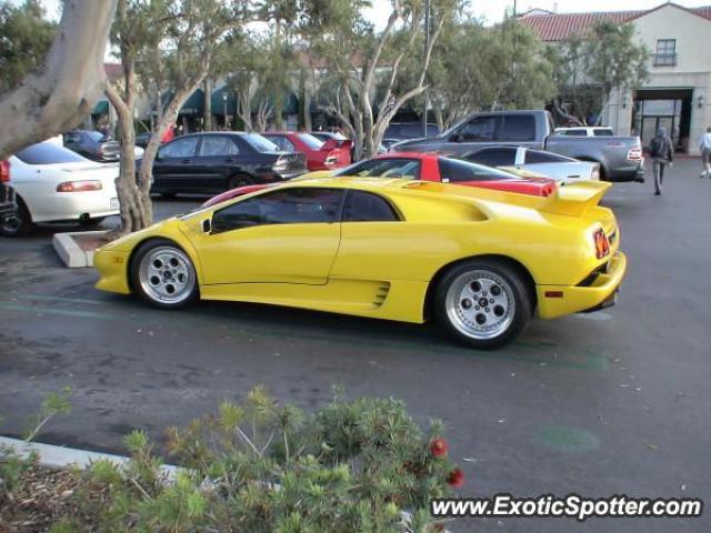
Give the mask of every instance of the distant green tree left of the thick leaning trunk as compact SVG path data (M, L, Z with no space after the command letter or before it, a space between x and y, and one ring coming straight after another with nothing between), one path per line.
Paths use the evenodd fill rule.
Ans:
M38 0L0 4L0 92L16 88L47 57L57 24L44 19Z

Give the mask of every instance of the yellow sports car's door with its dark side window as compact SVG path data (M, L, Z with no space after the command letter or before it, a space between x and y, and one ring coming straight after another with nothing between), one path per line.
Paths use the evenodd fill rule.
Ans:
M217 210L194 245L203 283L323 285L340 242L342 189L288 188Z

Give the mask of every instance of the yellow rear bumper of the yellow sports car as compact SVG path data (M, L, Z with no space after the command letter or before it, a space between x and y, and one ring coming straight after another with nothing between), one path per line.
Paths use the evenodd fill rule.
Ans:
M614 304L615 294L627 271L627 258L615 252L607 272L583 285L537 285L538 315L555 319L572 313L592 312Z

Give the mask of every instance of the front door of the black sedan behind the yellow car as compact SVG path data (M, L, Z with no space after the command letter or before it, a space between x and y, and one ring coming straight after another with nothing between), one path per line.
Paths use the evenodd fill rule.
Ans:
M153 188L160 192L194 191L198 135L179 137L158 150L153 162Z

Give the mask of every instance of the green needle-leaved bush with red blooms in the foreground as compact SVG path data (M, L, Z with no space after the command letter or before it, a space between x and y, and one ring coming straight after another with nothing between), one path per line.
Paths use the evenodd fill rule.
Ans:
M337 394L306 414L256 389L168 431L171 462L186 467L174 482L166 483L146 434L133 432L131 461L94 464L76 502L91 502L82 514L110 532L438 531L429 501L462 481L440 435L439 423L423 431L392 399ZM89 497L97 492L101 503ZM54 531L81 527L64 521Z

